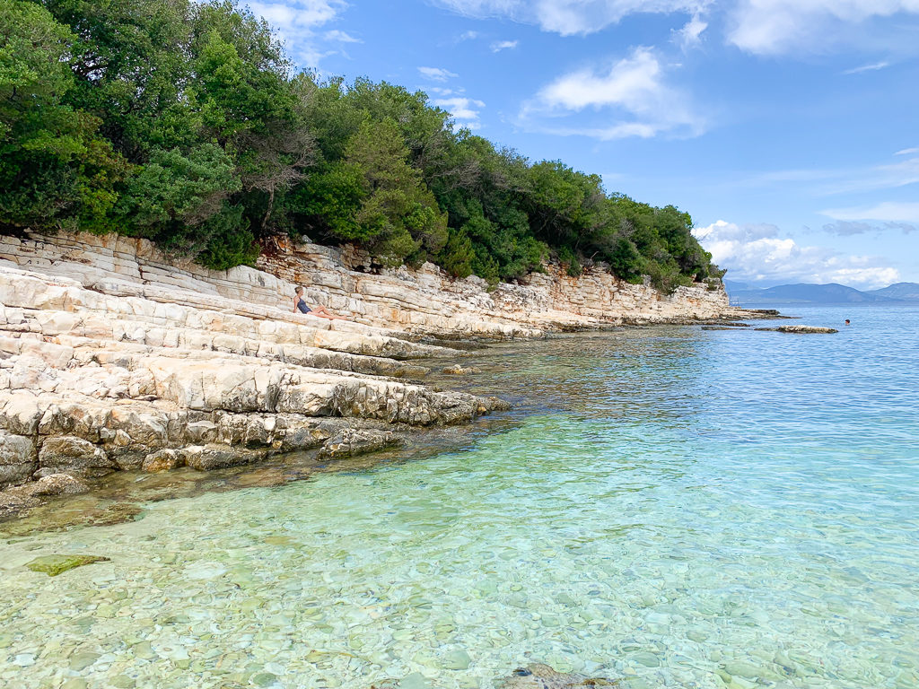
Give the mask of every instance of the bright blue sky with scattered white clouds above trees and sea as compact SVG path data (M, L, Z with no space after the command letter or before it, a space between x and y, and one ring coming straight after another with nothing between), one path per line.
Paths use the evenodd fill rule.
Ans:
M248 6L303 68L687 211L726 279L919 282L919 0Z

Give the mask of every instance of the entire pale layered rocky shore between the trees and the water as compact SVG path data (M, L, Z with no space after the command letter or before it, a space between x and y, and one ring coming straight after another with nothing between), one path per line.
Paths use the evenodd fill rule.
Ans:
M292 313L297 285L347 320ZM720 284L664 295L600 269L547 265L489 290L284 238L255 267L214 271L115 234L3 236L0 516L118 470L347 457L505 409L423 383L432 361L461 372L470 338L739 314Z

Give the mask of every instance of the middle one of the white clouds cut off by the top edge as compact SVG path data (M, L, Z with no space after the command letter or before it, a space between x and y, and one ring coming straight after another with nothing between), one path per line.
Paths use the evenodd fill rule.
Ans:
M637 13L697 13L710 0L435 0L467 17L510 17L562 36L589 34Z

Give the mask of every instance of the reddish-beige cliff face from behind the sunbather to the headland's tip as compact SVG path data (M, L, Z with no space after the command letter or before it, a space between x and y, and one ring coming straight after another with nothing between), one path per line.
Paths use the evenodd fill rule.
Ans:
M478 277L448 277L432 264L369 274L366 254L312 243L278 241L258 265L306 286L312 298L334 309L409 332L532 334L604 323L717 318L728 308L723 288L695 285L665 296L600 269L569 277L557 265L491 292Z

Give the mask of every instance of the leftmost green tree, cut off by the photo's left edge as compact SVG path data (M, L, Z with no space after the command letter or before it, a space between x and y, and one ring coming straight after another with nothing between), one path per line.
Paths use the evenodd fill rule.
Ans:
M103 232L125 164L99 120L67 105L74 34L30 2L0 2L0 223Z

